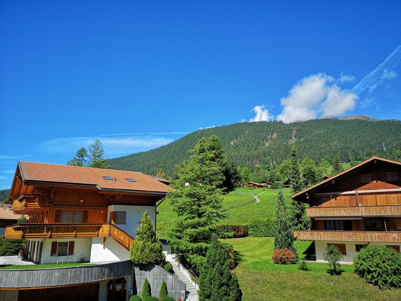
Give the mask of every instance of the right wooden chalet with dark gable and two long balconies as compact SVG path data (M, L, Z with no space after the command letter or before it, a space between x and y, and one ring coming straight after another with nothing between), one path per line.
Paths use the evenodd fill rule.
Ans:
M352 262L369 244L401 246L401 162L372 157L292 195L309 204L312 228L295 231L297 240L314 240L316 260L335 244Z

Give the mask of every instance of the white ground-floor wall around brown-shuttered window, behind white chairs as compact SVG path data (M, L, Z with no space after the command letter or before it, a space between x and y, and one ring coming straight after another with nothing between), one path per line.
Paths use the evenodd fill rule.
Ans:
M102 238L103 240L103 238ZM51 256L52 242L71 242L74 241L74 253L78 253L75 257L75 262L81 260L81 254L85 255L85 261L91 260L91 246L92 238L59 238L59 239L45 239L43 240L42 260L41 263L52 263L53 256ZM37 244L38 242L36 242ZM64 262L68 262L69 256L63 256Z

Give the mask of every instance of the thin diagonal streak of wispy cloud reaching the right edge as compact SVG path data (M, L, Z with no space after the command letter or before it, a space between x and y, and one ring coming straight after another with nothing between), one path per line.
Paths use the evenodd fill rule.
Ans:
M385 79L393 79L397 74L391 71L401 60L401 45L399 45L386 59L377 66L371 73L366 75L359 83L357 83L352 92L360 94L366 89L372 92L376 87L383 83Z

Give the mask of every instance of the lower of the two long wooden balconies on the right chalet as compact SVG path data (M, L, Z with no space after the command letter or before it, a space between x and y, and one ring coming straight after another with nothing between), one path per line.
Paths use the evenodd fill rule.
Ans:
M401 232L395 231L294 231L296 240L339 242L401 242Z

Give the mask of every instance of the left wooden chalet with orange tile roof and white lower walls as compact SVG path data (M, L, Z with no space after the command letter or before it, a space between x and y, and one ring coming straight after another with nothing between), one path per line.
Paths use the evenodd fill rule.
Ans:
M87 275L80 287L76 287L78 280L69 277L78 277L85 269L74 275L73 270L66 270L69 276L60 280L63 285L55 285L60 289L48 285L50 291L44 292L43 283L38 283L40 288L21 292L18 300L41 299L38 296L42 295L47 299L41 300L56 300L57 296L64 298L66 291L81 292L74 295L74 300L126 300L127 289L135 283L131 278L130 246L136 228L145 210L156 226L156 206L169 190L160 181L133 171L19 161L8 202L15 214L29 216L29 222L8 226L5 236L26 239L28 259L37 264L126 260L129 265L111 266L109 274L102 277L92 279ZM90 270L85 273L92 275ZM82 277L85 279L85 275ZM66 283L74 287L65 289ZM85 292L90 292L89 297L83 297Z

